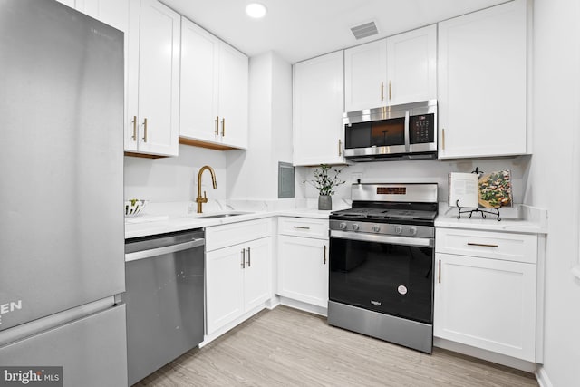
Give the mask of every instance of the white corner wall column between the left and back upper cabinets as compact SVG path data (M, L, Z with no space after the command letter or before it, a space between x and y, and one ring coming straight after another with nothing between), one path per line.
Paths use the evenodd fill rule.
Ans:
M273 52L250 58L247 148L227 152L227 198L277 199L278 161L292 162L292 67Z

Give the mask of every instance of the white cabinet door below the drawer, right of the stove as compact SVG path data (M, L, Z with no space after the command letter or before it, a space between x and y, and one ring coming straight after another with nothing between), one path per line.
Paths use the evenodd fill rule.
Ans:
M536 265L436 255L434 335L535 361Z

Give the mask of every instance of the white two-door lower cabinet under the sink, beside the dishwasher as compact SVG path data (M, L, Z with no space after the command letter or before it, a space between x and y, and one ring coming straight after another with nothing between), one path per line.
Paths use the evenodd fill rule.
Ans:
M232 323L264 304L271 295L272 237L271 219L208 227L206 248L222 241L247 240L206 253L206 321L207 334ZM260 229L266 232L247 233ZM224 237L224 239L222 239ZM218 238L218 244L213 243Z

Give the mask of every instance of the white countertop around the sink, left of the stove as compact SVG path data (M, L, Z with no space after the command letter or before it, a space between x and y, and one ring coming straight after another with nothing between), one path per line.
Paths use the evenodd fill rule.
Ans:
M244 212L244 211L215 211L206 215L216 215L226 212ZM131 220L125 221L125 238L147 237L151 235L164 234L174 231L188 230L199 227L212 227L225 225L228 223L243 222L246 220L270 218L270 217L297 217L297 218L319 218L328 219L331 211L320 211L314 208L291 208L280 209L275 211L256 211L247 214L237 215L227 218L196 218L198 214L189 216L147 216L144 215ZM149 221L150 220L150 221ZM137 221L137 222L135 222Z

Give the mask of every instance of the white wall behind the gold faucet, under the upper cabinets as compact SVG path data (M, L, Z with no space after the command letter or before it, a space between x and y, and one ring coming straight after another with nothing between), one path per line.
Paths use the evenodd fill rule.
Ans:
M218 189L213 189L209 172L202 177L208 198L227 196L226 153L220 150L179 145L179 157L141 159L125 157L125 198L154 202L193 201L197 197L198 172L204 165L216 171Z

